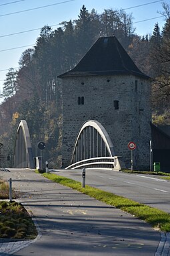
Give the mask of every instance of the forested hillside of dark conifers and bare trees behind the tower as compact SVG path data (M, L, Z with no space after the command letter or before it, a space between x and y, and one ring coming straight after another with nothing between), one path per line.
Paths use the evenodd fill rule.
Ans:
M7 72L0 105L0 142L4 154L13 155L13 141L19 120L29 125L33 150L45 141L45 158L51 167L60 166L61 80L59 74L73 68L99 36L115 35L138 68L153 78L151 103L155 123L170 123L170 10L163 3L165 25L153 27L152 35L135 34L132 14L107 9L91 12L85 6L74 21L63 21L52 30L41 29L36 46L23 52L19 70ZM11 162L4 162L5 167Z

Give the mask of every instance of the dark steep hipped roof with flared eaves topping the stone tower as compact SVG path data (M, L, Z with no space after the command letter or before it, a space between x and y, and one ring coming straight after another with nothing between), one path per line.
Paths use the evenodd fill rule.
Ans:
M58 77L115 74L133 74L149 78L137 68L117 38L112 36L99 38L75 68Z

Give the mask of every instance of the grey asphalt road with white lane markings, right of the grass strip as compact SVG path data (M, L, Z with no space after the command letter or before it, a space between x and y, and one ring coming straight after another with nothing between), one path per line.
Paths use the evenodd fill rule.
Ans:
M57 170L58 175L82 181L82 170ZM111 170L86 170L86 184L170 212L170 182L157 176Z

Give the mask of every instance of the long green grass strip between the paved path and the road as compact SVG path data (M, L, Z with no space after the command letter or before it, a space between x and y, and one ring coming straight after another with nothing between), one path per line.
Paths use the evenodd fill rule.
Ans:
M69 188L73 188L73 190L77 190L101 202L115 206L115 208L119 208L124 212L128 212L129 214L149 223L149 225L154 229L164 232L170 231L170 214L167 212L163 212L157 208L140 204L139 202L124 198L123 196L117 196L111 192L105 192L91 186L86 185L85 188L82 188L81 182L76 182L75 180L71 180L63 176L57 176L56 174L42 175L53 182L57 182L63 186L68 186Z

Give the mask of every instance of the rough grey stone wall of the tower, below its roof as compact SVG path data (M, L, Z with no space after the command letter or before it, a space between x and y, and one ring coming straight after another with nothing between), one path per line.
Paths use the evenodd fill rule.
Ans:
M129 141L137 144L133 151L134 168L149 166L149 80L133 75L75 76L63 78L62 84L63 167L70 164L79 129L90 119L105 127L116 155L123 157L127 168L131 160ZM83 101L82 97L84 104L78 105L78 101Z

